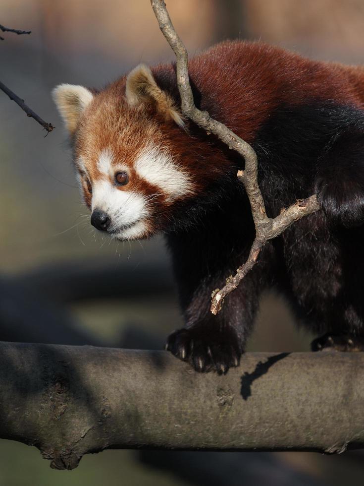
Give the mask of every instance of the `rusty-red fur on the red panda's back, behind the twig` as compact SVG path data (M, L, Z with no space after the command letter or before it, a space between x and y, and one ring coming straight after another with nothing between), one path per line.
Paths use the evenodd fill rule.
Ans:
M218 44L192 58L189 72L202 93L201 108L249 142L281 104L333 100L364 108L363 68L312 61L260 42Z

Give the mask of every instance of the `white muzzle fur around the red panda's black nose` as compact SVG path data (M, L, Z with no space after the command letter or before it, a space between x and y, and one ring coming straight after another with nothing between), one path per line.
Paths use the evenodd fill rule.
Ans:
M116 237L138 238L146 229L140 220L148 216L147 200L138 192L119 190L109 181L98 181L92 192L92 210L95 208L109 216L110 229Z

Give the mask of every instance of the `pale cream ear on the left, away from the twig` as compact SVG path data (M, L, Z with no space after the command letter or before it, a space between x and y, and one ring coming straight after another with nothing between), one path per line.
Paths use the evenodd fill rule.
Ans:
M53 89L52 97L66 128L73 135L82 112L91 103L94 95L83 86L60 84Z

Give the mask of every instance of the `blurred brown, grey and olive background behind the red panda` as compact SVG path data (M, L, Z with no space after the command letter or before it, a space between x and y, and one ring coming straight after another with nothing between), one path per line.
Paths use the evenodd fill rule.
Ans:
M305 56L361 63L364 1L170 0L190 55L224 39L261 39ZM115 243L95 233L50 91L102 87L173 59L148 0L2 0L1 81L56 129L45 132L0 92L0 340L161 348L182 320L161 238ZM152 285L153 284L153 285ZM153 288L153 291L151 290ZM312 336L273 294L250 351L308 351ZM362 485L364 456L104 451L53 471L39 451L0 441L0 486Z

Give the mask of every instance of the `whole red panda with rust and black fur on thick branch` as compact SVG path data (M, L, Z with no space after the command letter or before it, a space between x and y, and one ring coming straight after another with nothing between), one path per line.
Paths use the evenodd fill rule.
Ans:
M189 74L198 108L256 150L268 216L313 193L321 209L268 243L214 316L211 291L254 238L244 160L183 118L173 63L139 65L100 91L56 87L91 224L118 240L166 237L185 317L167 349L198 371L237 366L272 287L326 333L314 349L361 349L364 69L236 41L191 59Z

